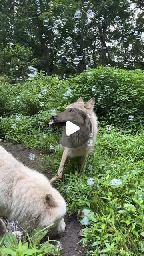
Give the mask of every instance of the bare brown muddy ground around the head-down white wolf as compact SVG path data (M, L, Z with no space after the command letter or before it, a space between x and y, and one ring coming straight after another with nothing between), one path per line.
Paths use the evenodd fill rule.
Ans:
M30 150L25 146L20 144L13 144L10 142L0 142L0 146L4 146L4 148L9 151L16 159L20 162L25 164L26 166L33 168L35 170L46 171L42 167L42 159L40 159L40 154L35 150ZM35 154L36 158L34 160L30 160L28 156L30 153ZM47 177L50 177L50 173L46 173ZM78 223L76 216L68 215L65 217L66 222L66 230L65 234L60 235L53 235L50 234L50 239L54 239L60 241L62 244L62 253L61 256L86 256L87 254L84 253L84 250L81 248L81 244L78 244L80 238L78 237L78 233L82 226ZM9 223L7 228L10 231L14 231L15 225L13 223ZM17 229L20 230L19 226Z

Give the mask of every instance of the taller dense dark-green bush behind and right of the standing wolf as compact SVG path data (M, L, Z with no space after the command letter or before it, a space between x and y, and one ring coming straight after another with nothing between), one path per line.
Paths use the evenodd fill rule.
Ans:
M143 122L144 72L98 67L70 80L71 101L79 96L85 100L96 98L95 111L99 120L136 127ZM130 122L128 116L134 116Z

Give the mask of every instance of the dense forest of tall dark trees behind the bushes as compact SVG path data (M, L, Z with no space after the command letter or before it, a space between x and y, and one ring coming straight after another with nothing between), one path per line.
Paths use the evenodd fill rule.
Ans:
M143 0L0 0L0 74L144 69ZM29 70L36 73L36 70Z

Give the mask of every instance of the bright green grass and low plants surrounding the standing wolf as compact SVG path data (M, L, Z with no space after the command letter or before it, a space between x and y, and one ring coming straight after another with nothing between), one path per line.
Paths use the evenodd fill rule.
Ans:
M44 165L54 175L62 156L59 130L37 119L34 123L34 117L31 121L22 118L11 128L14 122L12 117L3 118L2 134L41 152ZM68 212L79 212L80 222L81 209L91 209L80 242L92 256L144 255L143 141L144 130L134 134L99 126L85 175L78 175L76 159L68 160L63 179L54 185L64 196ZM93 185L87 184L88 178L94 179Z

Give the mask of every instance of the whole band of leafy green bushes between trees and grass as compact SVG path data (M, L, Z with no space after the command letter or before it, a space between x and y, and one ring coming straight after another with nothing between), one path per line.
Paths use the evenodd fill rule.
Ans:
M40 110L61 111L80 96L96 98L99 120L136 129L143 123L144 74L142 70L98 67L69 80L38 74L24 84L0 84L1 116L21 113L34 115ZM128 120L134 116L133 121Z

